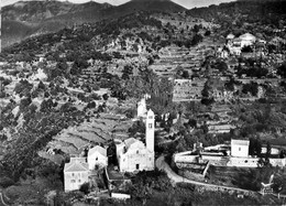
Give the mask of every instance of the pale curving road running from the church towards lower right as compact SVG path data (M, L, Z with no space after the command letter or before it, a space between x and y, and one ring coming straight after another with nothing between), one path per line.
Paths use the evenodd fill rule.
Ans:
M160 156L156 160L156 167L158 170L163 170L166 172L167 176L172 180L174 183L190 183L194 185L200 185L200 186L207 186L207 187L216 187L216 188L221 188L221 189L230 189L230 191L237 191L237 192L242 192L242 193L256 193L254 191L249 191L249 189L243 189L243 188L238 188L238 187L231 187L231 186L222 186L222 185L215 185L215 184L208 184L208 183L201 183L197 181L191 181L188 178L185 178L183 176L179 176L176 174L169 165L166 163L164 156Z

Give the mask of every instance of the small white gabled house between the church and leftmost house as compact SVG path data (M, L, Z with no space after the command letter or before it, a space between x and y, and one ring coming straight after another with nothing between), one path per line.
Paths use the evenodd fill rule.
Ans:
M108 165L107 149L96 145L88 151L87 156L89 170L95 170L96 166L105 167Z

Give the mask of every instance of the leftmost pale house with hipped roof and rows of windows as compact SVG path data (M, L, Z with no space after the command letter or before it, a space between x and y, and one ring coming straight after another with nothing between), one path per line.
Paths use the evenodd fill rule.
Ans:
M89 169L86 159L72 158L65 164L65 192L79 189L84 183L88 183Z

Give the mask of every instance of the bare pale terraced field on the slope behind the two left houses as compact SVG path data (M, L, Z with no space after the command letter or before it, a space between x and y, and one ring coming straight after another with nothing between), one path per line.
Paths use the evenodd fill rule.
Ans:
M85 121L79 126L62 130L53 138L47 148L62 150L66 154L80 154L90 145L107 145L113 138L118 138L117 128L124 133L128 133L128 129L131 128L132 121L122 118L120 115L101 113L90 122Z

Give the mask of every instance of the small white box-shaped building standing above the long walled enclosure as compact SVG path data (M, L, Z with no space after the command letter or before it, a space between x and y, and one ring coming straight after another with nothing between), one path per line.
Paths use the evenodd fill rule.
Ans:
M250 140L231 140L231 155L239 158L249 156Z

